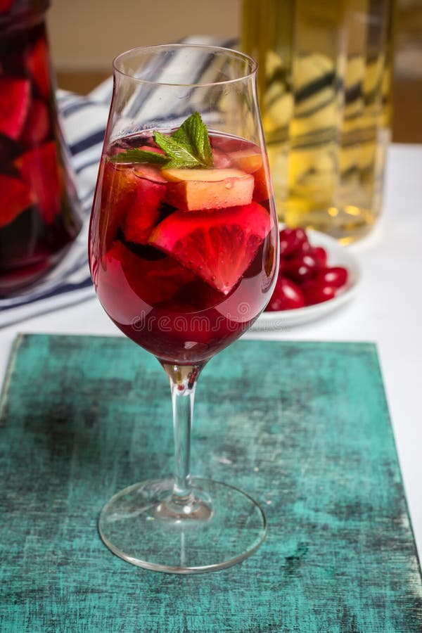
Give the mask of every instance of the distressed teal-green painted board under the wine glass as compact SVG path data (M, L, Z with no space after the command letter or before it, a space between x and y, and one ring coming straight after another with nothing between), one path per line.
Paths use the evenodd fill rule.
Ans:
M96 532L122 487L171 471L170 390L123 338L19 338L1 408L0 630L416 633L421 574L376 349L240 341L197 390L193 473L267 511L257 554L190 577Z

